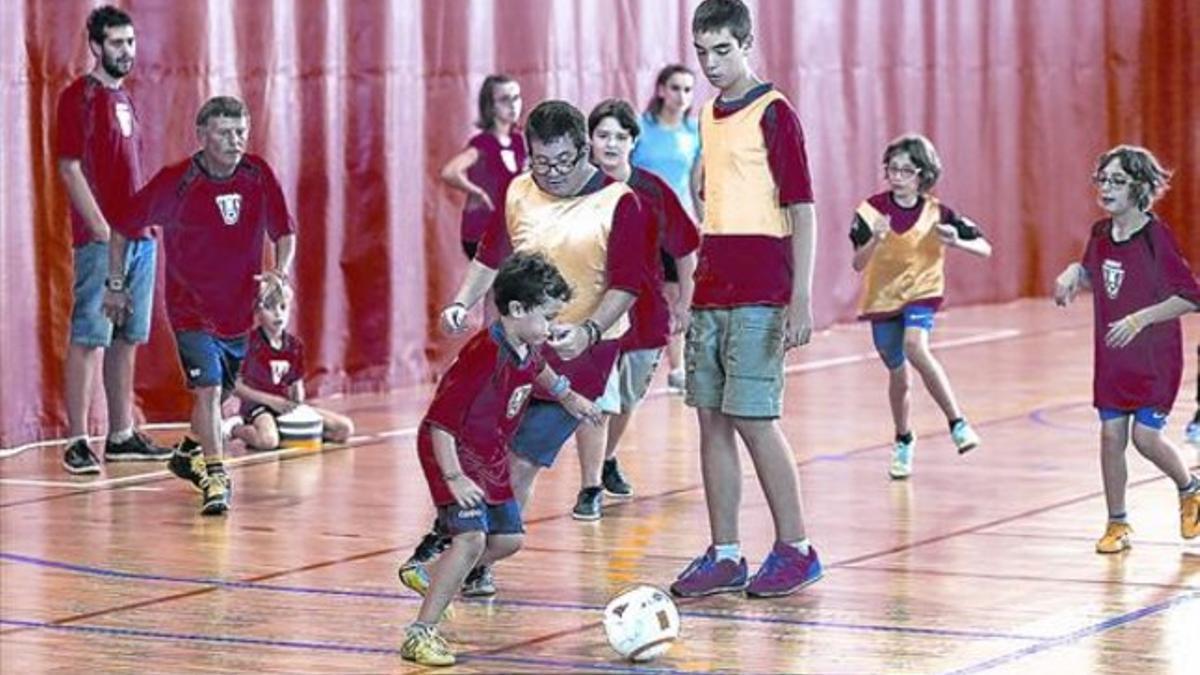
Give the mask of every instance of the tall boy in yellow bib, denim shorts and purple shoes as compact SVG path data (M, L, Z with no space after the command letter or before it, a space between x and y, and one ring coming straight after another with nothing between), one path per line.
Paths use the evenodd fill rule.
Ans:
M784 95L750 70L754 35L740 0L706 0L691 32L704 77L720 89L700 118L704 238L685 359L712 545L671 592L786 596L822 574L804 530L796 458L778 423L784 353L812 334L816 216L804 133ZM738 542L737 437L775 525L775 543L754 577Z

